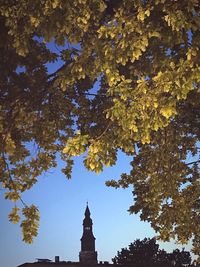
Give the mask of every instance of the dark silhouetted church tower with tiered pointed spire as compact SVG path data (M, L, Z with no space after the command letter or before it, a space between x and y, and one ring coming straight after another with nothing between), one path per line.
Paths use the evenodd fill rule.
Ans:
M81 252L79 260L81 263L97 264L97 252L95 251L95 237L92 232L92 219L88 204L85 210L83 220L83 236L81 237Z

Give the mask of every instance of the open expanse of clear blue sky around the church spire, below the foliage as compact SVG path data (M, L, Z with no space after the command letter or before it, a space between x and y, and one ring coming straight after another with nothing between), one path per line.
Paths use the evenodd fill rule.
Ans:
M132 204L131 188L114 189L105 186L107 179L119 178L129 171L130 158L119 153L117 165L100 175L88 172L82 159L75 160L72 179L67 180L58 167L39 178L39 182L23 194L27 204L35 203L41 212L40 229L32 245L22 242L19 225L11 224L7 215L13 206L4 200L0 190L0 266L15 267L35 258L78 261L82 222L89 202L96 237L98 260L110 261L118 250L127 247L135 239L153 237L154 231L139 216L129 215ZM160 248L172 251L174 243L161 244ZM190 246L185 246L187 250Z

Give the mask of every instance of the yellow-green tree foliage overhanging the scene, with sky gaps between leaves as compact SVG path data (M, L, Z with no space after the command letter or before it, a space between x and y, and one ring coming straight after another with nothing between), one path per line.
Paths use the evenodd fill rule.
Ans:
M59 155L70 178L74 156L98 173L121 150L132 170L107 185L133 186L130 212L200 254L199 1L0 3L5 197L22 200ZM39 215L24 208L31 242ZM20 220L18 208L9 219Z

